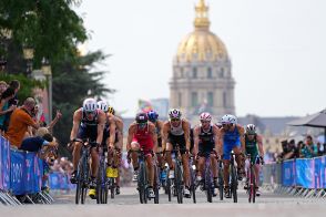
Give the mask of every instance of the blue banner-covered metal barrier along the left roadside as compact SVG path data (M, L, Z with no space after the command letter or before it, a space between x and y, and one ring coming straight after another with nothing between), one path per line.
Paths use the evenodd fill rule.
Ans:
M48 203L50 196L41 192L43 162L32 152L10 148L9 142L0 136L0 202L19 205L19 195L29 203Z

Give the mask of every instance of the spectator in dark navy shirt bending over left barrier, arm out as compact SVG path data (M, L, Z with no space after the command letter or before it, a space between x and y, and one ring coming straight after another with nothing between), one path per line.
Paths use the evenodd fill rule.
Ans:
M57 144L53 141L53 136L49 133L45 133L43 136L24 138L19 149L28 152L39 152L45 145L57 146Z

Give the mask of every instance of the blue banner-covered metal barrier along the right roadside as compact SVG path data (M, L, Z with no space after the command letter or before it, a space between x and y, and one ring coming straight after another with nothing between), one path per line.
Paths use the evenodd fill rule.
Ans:
M288 159L263 167L264 185L299 197L326 197L326 156Z

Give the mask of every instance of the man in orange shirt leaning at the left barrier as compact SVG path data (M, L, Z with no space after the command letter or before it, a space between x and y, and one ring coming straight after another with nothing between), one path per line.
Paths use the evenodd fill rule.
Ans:
M9 140L10 145L21 146L21 142L24 137L28 126L39 128L39 124L35 123L31 116L32 111L35 106L35 101L32 97L28 97L23 106L16 108L9 121L9 127L6 133L6 138Z

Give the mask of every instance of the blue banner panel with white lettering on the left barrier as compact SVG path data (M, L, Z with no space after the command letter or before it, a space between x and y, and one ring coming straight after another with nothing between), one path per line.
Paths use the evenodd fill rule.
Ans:
M23 152L11 151L11 189L13 195L23 195L26 177L26 156Z

